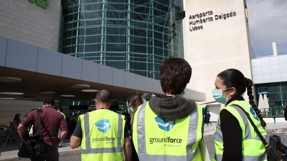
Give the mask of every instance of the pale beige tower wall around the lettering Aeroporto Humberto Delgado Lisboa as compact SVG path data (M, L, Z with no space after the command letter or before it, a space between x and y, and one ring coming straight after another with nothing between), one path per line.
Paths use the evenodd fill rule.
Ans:
M202 25L203 29L191 32L189 16L207 11L213 14L201 19L212 17L213 21L196 25ZM215 20L215 15L231 11L236 12L236 16ZM211 90L221 71L236 68L252 79L244 0L186 0L185 15L184 58L192 66L187 88L206 93L206 101L213 101Z

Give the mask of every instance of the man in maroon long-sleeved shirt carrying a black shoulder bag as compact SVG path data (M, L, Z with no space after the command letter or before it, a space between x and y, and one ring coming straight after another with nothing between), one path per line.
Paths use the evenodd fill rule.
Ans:
M43 103L41 112L41 131L45 143L45 158L37 161L59 161L58 145L67 135L67 124L64 116L55 109L55 102L51 99L46 99ZM25 119L20 122L18 126L19 136L22 136L26 127L30 124L34 125L33 134L38 133L38 116L37 111L34 110L28 114ZM60 138L58 138L59 129L62 131ZM32 159L31 159L32 160ZM33 160L32 160L33 161Z

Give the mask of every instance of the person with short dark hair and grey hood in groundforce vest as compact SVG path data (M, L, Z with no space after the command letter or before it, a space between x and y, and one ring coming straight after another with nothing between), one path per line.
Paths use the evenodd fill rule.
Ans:
M202 107L181 94L191 78L191 66L181 58L162 62L156 95L134 114L132 138L140 161L202 161ZM205 150L205 149L204 149Z

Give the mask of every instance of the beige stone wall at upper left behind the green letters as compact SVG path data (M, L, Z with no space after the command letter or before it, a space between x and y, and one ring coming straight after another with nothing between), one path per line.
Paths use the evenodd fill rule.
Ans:
M47 9L28 0L0 0L0 36L58 51L61 1Z

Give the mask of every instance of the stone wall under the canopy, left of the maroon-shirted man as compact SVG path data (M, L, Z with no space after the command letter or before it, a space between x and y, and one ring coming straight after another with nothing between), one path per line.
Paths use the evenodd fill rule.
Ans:
M31 109L41 108L42 105L43 102L39 101L0 100L0 125L10 126L14 114L21 114L22 120Z

